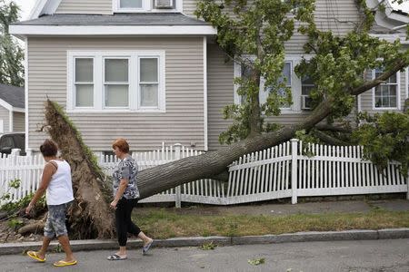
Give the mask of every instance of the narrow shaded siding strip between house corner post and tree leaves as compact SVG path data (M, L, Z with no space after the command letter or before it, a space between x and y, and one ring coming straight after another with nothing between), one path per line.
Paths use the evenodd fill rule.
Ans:
M234 103L234 65L225 63L225 55L216 44L207 44L208 147L221 148L219 135L232 121L223 119L223 108Z

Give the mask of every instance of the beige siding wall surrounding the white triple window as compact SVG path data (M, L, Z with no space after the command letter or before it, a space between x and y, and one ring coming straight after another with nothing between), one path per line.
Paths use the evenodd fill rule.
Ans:
M132 151L150 151L162 141L205 148L203 38L30 38L28 50L30 148L46 137L36 131L46 95L66 107L68 50L165 50L165 113L69 114L92 150L110 151L117 137L128 139Z

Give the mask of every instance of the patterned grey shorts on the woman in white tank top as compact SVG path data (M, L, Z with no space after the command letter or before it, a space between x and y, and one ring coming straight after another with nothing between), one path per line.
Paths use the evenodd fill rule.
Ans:
M48 216L44 227L44 236L54 238L68 235L65 226L66 210L71 205L71 202L60 205L48 205Z

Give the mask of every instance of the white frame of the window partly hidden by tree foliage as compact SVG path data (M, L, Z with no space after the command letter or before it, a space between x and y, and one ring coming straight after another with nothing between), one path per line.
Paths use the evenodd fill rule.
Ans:
M245 58L254 59L254 56L244 56ZM304 55L305 58L310 56ZM291 92L293 95L293 104L289 108L280 108L282 114L301 113L301 79L294 73L294 67L300 63L302 59L301 55L286 55L284 58L285 63L290 63L291 73ZM234 78L240 77L242 74L242 67L240 63L234 63ZM267 94L264 92L264 79L261 79L261 91L259 92L260 102L266 101ZM239 105L241 103L240 95L237 93L238 85L234 84L234 104Z

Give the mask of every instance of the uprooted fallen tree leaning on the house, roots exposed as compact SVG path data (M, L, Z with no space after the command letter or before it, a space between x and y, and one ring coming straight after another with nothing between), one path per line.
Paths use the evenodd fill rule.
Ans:
M217 42L226 56L251 71L247 78L235 80L244 103L227 106L224 111L226 118L234 119L234 124L221 137L221 141L229 145L220 151L140 171L137 182L141 198L193 180L217 179L223 176L229 164L244 154L288 141L296 131L310 131L321 121L346 116L354 107L356 95L384 83L409 64L408 50L401 44L390 44L367 33L373 14L362 2L364 22L344 37L317 29L314 1L257 0L254 5L247 5L246 1L226 1L224 4L234 5L235 16L223 12L224 5L214 1L201 1L197 15L217 28ZM290 12L295 13L294 17L287 16ZM299 31L309 37L305 53L314 53L311 59L295 68L300 78L309 76L314 81L311 93L314 109L304 121L280 127L265 122L264 115L279 115L280 107L292 102L291 90L285 87L281 74L284 43L293 35L294 20L303 23ZM254 55L254 59L246 54ZM384 72L368 81L364 72L377 67L383 67ZM262 82L270 88L266 102L259 101ZM65 112L51 101L46 102L45 109L46 131L73 170L72 232L78 238L112 238L114 217L108 209L112 198L109 182Z

